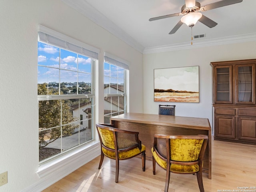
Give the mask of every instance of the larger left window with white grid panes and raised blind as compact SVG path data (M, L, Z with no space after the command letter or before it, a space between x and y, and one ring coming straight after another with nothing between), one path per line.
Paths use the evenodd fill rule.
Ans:
M98 54L43 26L38 39L39 161L42 163L94 140L94 65Z

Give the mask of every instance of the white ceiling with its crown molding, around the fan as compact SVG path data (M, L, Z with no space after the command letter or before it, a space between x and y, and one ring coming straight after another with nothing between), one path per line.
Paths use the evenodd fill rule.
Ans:
M148 21L149 18L180 13L185 0L62 0L96 24L140 52L150 49L190 46L191 29L183 24L175 34L168 34L182 16ZM201 6L218 0L198 0ZM256 39L256 0L202 12L218 23L208 28L197 22L192 34L205 34L193 40L197 44L214 44Z

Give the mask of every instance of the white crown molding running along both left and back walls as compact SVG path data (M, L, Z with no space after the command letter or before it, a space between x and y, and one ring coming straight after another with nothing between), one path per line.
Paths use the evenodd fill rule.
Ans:
M120 40L126 42L135 50L141 52L142 54L150 54L157 52L166 52L166 51L174 51L174 50L184 50L184 49L192 49L206 46L216 46L223 44L233 44L233 43L241 43L248 41L256 40L256 33L252 34L242 34L237 36L228 36L223 38L214 38L210 40L194 40L193 45L190 42L178 43L178 44L168 44L164 46L154 46L144 48L141 44L139 44L134 38L129 36L124 30L122 30L119 26L114 24L111 20L106 18L102 13L96 10L93 6L88 4L88 2L84 0L62 0L62 2L66 3L68 6L74 8L90 20L92 22L98 24L108 32L112 33L114 36L119 38Z

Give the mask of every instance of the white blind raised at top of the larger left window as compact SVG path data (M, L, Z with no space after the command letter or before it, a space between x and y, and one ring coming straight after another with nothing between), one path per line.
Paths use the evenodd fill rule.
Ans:
M94 59L98 59L98 54L100 53L98 48L82 43L42 25L38 26L38 41L52 44L59 48L76 52Z

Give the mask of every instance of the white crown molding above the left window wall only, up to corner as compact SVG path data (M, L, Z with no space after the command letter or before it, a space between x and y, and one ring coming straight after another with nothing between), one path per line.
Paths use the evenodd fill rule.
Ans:
M62 2L66 3L68 6L74 8L90 20L92 22L98 24L108 32L112 33L114 36L119 38L120 40L126 42L132 48L137 51L143 53L144 47L139 44L136 40L134 40L131 36L129 36L124 30L122 30L119 26L114 24L111 20L106 18L102 13L96 10L93 6L88 4L88 2L84 0L62 0Z

